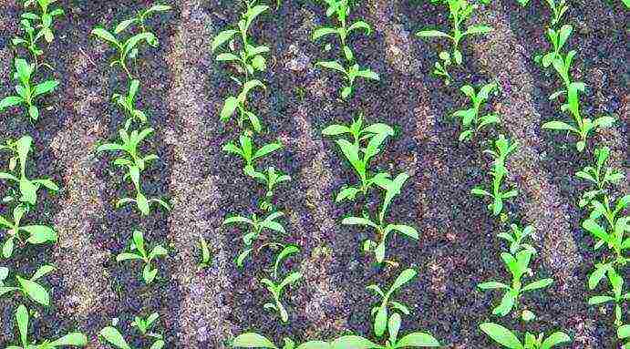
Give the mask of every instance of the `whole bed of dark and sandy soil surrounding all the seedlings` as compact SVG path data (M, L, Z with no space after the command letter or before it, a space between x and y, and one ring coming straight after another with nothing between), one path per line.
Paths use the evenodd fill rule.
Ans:
M239 134L233 121L218 120L223 98L235 94L236 87L230 69L213 60L210 43L238 20L241 3L162 3L172 11L149 21L160 46L143 50L132 70L141 81L139 108L155 128L143 150L160 157L143 174L144 190L170 200L170 212L140 217L129 207L116 210L114 202L131 188L111 165L113 158L95 150L115 139L122 127L124 115L110 97L126 91L127 82L117 67L108 67L113 52L89 32L98 25L111 28L149 1L61 1L67 15L57 19L56 39L45 50L54 70L43 69L37 76L57 78L60 87L42 99L46 108L35 124L17 108L3 113L3 139L24 134L35 139L29 173L50 177L62 188L57 195L43 195L38 210L28 216L29 221L54 225L59 242L23 248L2 262L21 275L31 275L44 263L57 266L44 282L51 290L51 306L27 303L37 315L30 325L31 338L41 342L81 331L88 335L89 348L106 348L98 343L98 331L118 319L130 344L148 347L129 323L137 314L152 312L160 313L158 330L169 348L223 348L233 336L250 330L277 344L283 337L306 341L349 333L369 336L369 312L377 299L366 286L389 285L412 267L418 270L417 279L397 293L412 310L403 317L403 331L429 332L444 347L497 347L480 333L478 325L485 321L521 333L563 330L573 338L573 344L565 346L570 348L621 346L615 342L612 307L586 303L591 294L587 274L599 254L579 228L586 213L577 208L577 200L586 186L573 176L592 162L593 149L604 145L613 149L612 163L628 173L628 16L621 2L575 1L565 16L575 28L568 43L578 52L573 77L588 86L584 114L618 119L614 129L595 134L582 154L573 149L571 137L540 127L546 120L563 118L547 98L560 86L558 78L533 62L548 48L544 30L550 13L542 2L525 8L508 0L480 5L470 22L497 30L464 40L464 64L454 68L450 86L430 74L446 43L414 35L428 26L447 30L444 6L415 0L363 2L352 18L364 18L374 32L353 36L351 45L357 61L381 79L360 81L347 102L338 97L339 76L314 66L338 55L336 43L325 52L322 43L310 40L315 27L328 23L324 7L305 0L284 1L278 9L270 4L271 11L253 25L253 39L270 46L271 57L260 77L267 88L257 92L252 107L265 126L258 144L274 139L284 143L282 151L265 159L265 166L292 177L290 185L277 191L275 203L287 218L283 240L302 251L284 264L283 272L298 270L304 278L284 297L290 314L285 325L263 309L268 294L258 280L266 276L271 255L255 256L241 272L233 262L240 252L240 232L222 226L228 214L251 213L263 195L260 186L243 175L241 163L221 151ZM0 5L4 97L13 91L15 50L10 40L19 32L22 9L15 0ZM501 94L491 98L487 110L501 113L501 127L459 142L460 126L449 117L467 102L459 87L494 79L500 81ZM517 103L525 99L522 108ZM356 205L334 202L337 190L356 178L335 143L321 135L325 126L347 123L359 113L367 122L386 122L396 129L374 168L411 175L389 218L414 225L420 238L393 236L387 255L395 263L385 267L360 252L368 231L340 223L362 203L376 209L379 198L368 197ZM482 151L499 133L523 145L516 159L528 159L508 165L516 173L509 184L521 195L508 204L505 223L488 214L487 202L470 195L470 188L490 180L486 173L491 159ZM7 159L0 161L5 168ZM0 190L7 190L2 185ZM624 181L617 190L627 188ZM549 202L553 204L543 205ZM0 212L7 214L6 208ZM554 217L549 224L548 217ZM532 269L537 277L556 281L523 297L522 309L538 316L533 323L493 318L491 309L500 295L476 289L479 282L507 281L499 256L506 247L496 235L510 222L539 228L533 244L542 252ZM562 224L554 225L557 222ZM157 262L159 277L150 286L140 280L139 264L115 261L135 229L145 232L150 245L161 243L170 251ZM200 235L212 250L212 266L204 270L195 265ZM0 346L18 341L14 313L21 302L18 296L0 300Z

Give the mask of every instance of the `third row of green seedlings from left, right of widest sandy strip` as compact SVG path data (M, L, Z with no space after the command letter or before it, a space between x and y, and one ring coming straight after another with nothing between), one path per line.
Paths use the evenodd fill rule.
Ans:
M283 273L283 263L298 254L300 248L284 241L284 212L276 206L274 193L281 183L291 178L274 166L264 168L261 164L265 157L282 149L283 145L279 141L261 147L256 145L255 136L263 133L263 123L250 103L256 89L266 89L263 81L256 76L266 71L265 56L270 51L268 46L254 42L250 30L254 20L268 10L269 6L259 4L258 0L244 0L243 12L235 28L223 30L212 40L212 52L220 52L216 60L235 67L237 74L231 78L239 90L238 95L225 98L220 118L222 122L228 122L235 117L241 134L238 140L223 145L222 150L242 160L243 174L263 185L265 191L264 197L258 200L257 207L248 216L231 214L223 225L243 228L243 248L235 261L239 269L265 249L274 254L269 276L259 281L270 295L263 308L277 313L281 323L288 323L289 313L283 303L283 294L302 278L302 274L296 271Z

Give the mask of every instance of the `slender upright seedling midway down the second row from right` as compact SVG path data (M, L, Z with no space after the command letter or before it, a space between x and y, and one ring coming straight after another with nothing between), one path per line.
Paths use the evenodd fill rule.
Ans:
M499 139L494 141L496 151L490 149L484 150L485 153L490 154L492 158L494 158L490 171L492 177L492 192L484 190L479 186L470 190L470 193L473 195L492 199L491 203L488 204L488 210L491 210L494 216L498 216L501 210L503 210L504 200L511 199L519 194L519 191L515 189L507 191L501 189L501 184L508 175L508 170L505 168L505 160L516 150L517 146L518 144L515 141L511 142L503 135L499 135Z

